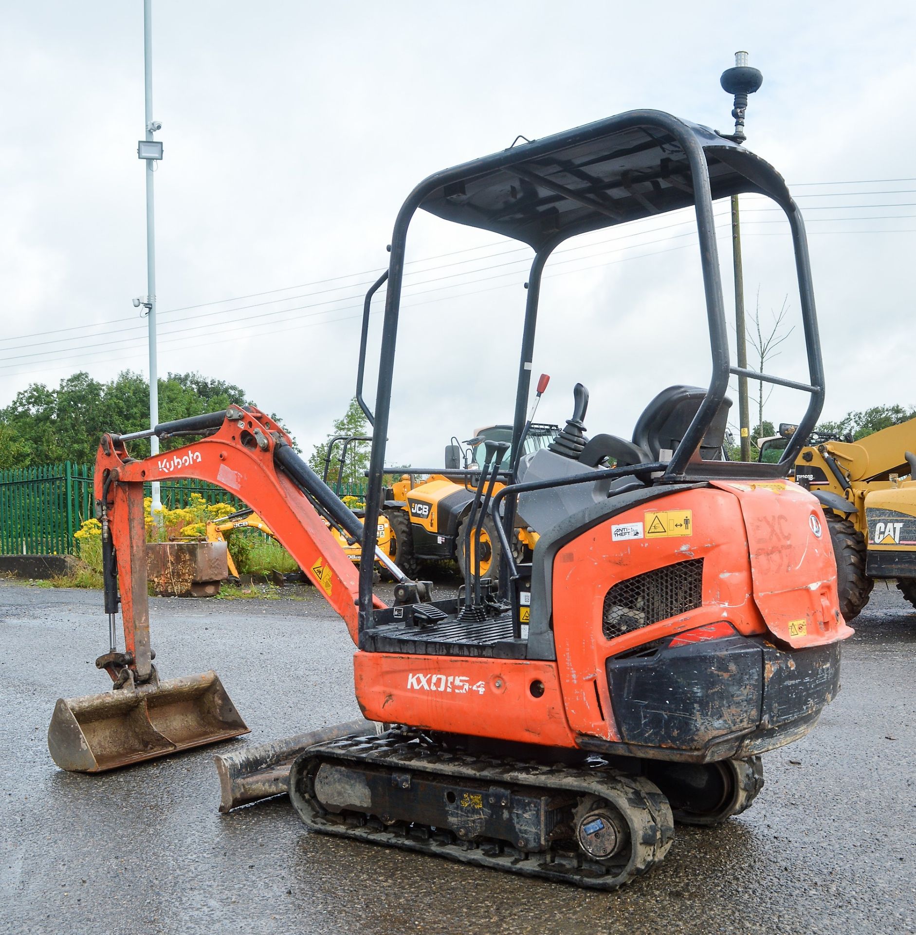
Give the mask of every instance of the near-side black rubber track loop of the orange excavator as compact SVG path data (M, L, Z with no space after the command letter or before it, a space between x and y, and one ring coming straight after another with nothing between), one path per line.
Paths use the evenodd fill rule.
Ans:
M523 852L506 841L457 841L444 830L408 826L404 822L383 825L368 818L342 825L316 807L310 775L321 762L373 764L388 770L414 770L453 777L456 780L554 789L577 795L606 798L624 815L630 826L629 858L616 865L589 860L579 851L553 847L546 852ZM410 851L447 857L465 864L508 870L524 876L611 890L641 876L658 863L674 840L671 808L658 787L647 779L627 776L606 766L575 768L522 763L495 757L475 757L445 750L413 732L389 732L380 737L344 738L308 749L293 764L290 798L305 824L323 834L358 841L387 844ZM336 819L336 821L334 820ZM625 862L624 862L625 860Z

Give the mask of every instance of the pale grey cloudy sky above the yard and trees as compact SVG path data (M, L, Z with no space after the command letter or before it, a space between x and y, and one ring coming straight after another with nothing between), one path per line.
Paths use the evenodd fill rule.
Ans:
M30 382L78 369L102 380L146 372L131 305L146 291L143 22L141 0L0 8L6 405ZM352 395L360 296L417 181L517 134L631 108L729 130L719 75L747 49L764 72L749 144L793 186L809 225L824 416L916 402L906 351L916 338L913 7L694 9L154 0L160 372L239 383L308 450ZM798 310L786 228L767 207L743 205L748 302L759 290L765 322L786 295ZM727 206L718 211L724 223ZM689 220L604 231L555 255L534 364L553 378L541 417L562 422L583 381L589 428L629 435L659 389L708 380ZM438 460L452 434L510 418L529 258L516 247L432 218L415 224L392 459ZM772 367L804 378L797 329ZM778 391L766 416L797 418L801 405Z

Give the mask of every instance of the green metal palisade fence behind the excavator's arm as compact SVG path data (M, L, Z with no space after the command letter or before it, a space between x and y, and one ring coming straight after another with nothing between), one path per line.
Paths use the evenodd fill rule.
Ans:
M215 484L190 479L160 484L163 505L186 507L192 494L208 503L245 504ZM364 484L343 484L341 496L365 496ZM150 496L150 485L146 485ZM45 465L0 470L0 554L64 555L76 551L73 534L95 515L93 466Z

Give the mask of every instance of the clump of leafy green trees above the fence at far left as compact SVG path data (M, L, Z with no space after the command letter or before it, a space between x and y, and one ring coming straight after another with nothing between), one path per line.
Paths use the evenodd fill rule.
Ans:
M209 380L197 373L170 373L159 381L161 422L246 403L234 383ZM271 413L271 419L282 424ZM33 383L0 410L0 468L24 468L61 461L91 462L105 432L141 431L150 424L150 391L146 379L124 370L106 383L75 373L56 389ZM163 439L167 451L187 444L188 437ZM135 457L150 453L150 442L130 444Z

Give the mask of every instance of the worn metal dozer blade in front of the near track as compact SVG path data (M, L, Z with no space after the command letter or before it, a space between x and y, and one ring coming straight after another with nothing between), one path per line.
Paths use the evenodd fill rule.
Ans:
M226 813L262 798L285 795L290 789L293 760L308 747L381 729L382 725L360 717L281 741L252 744L235 754L214 756L216 771L220 775L220 811Z

